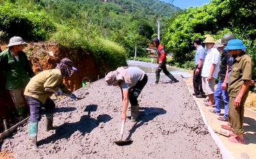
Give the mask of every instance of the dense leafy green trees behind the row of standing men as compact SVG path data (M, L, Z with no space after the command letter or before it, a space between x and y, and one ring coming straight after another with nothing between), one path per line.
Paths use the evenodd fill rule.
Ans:
M188 64L194 58L191 41L195 37L203 39L203 35L211 34L220 39L232 32L244 41L256 64L255 8L254 0L212 0L201 7L183 10L169 19L163 36L166 48L174 53L176 65Z

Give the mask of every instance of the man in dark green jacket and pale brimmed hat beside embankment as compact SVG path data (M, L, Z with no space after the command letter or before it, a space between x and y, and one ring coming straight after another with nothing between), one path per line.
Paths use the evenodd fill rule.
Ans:
M30 78L35 75L23 52L25 44L27 43L21 37L12 37L9 48L0 54L0 69L5 74L5 88L10 91L20 120L27 116L27 102L23 92Z

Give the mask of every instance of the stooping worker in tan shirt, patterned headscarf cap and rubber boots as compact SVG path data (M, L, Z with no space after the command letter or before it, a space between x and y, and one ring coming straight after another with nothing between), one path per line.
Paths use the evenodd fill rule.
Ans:
M71 77L75 67L72 67L72 60L63 58L56 69L42 71L35 75L25 88L25 97L30 109L29 119L29 143L33 149L37 149L38 122L41 119L41 109L46 111L46 130L53 128L53 112L55 103L49 98L53 92L57 95L66 92L72 99L76 96L63 85L63 76Z

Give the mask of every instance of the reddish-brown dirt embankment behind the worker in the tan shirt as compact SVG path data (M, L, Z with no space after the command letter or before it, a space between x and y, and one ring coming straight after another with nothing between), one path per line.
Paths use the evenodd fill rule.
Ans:
M1 46L2 50L6 48L6 44ZM96 61L89 52L65 48L54 42L29 43L24 51L28 55L35 73L54 69L62 58L70 58L74 66L79 69L71 78L64 79L64 84L70 90L81 88L84 77L87 77L87 82L94 82L98 79L98 75L101 78L104 77L104 73L110 71L108 63Z

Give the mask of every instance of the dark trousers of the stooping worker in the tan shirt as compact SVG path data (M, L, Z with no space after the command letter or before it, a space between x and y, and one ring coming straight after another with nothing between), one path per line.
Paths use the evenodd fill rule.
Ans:
M27 99L27 103L29 103L30 109L30 119L29 122L38 122L41 120L41 111L42 107L44 107L46 111L46 115L49 113L53 113L55 109L55 103L50 98L46 99L46 102L43 104L38 99L34 99L31 96L25 96Z

